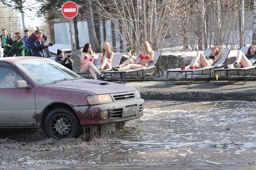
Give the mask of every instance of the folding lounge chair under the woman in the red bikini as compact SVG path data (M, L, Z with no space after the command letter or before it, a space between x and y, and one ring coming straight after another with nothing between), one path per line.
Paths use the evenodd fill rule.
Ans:
M161 56L161 51L154 51L154 61L153 62L149 62L148 63L148 66L146 68L137 68L137 69L129 69L129 70L124 70L124 71L105 71L105 75L106 74L111 74L111 81L113 80L113 77L112 77L112 74L116 74L116 73L120 73L120 78L121 78L121 81L124 82L124 84L127 82L127 73L128 72L137 72L136 75L130 75L130 76L138 76L139 78L142 78L142 81L144 80L144 70L147 70L147 69L150 69L150 68L155 68L157 67L157 71L158 71L158 77L160 77L160 74L159 74L159 68L158 68L158 60ZM142 72L142 74L139 74L139 71Z

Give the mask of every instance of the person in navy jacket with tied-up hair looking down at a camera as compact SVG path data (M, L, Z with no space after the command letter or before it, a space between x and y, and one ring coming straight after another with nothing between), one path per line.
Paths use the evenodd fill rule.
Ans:
M42 35L43 31L41 29L35 30L35 32L29 36L29 45L33 56L47 58L45 49L49 46L49 42L45 41Z

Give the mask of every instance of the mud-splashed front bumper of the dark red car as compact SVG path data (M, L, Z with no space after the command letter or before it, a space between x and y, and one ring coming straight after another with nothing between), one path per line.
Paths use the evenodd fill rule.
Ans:
M119 123L139 118L143 115L144 100L129 99L92 106L75 106L81 126Z

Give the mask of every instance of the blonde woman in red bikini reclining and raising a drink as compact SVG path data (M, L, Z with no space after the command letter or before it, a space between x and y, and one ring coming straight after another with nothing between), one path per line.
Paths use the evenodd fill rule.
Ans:
M143 68L147 67L148 62L154 61L154 51L152 51L150 44L148 41L143 41L141 45L142 52L139 52L137 57L130 56L129 59L125 60L122 64L120 64L118 67L112 67L112 70L114 71L123 71L136 68ZM139 63L136 63L140 59Z

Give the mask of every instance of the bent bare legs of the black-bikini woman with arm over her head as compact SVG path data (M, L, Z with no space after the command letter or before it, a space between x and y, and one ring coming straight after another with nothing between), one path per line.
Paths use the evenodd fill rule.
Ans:
M200 63L198 63L199 60L200 60ZM207 60L202 52L197 51L196 59L195 59L194 63L192 65L189 64L188 66L186 66L184 70L188 69L190 66L196 66L195 68L202 68L202 67L207 67L207 66L210 67L212 65L210 62L212 63L213 60L212 59Z

